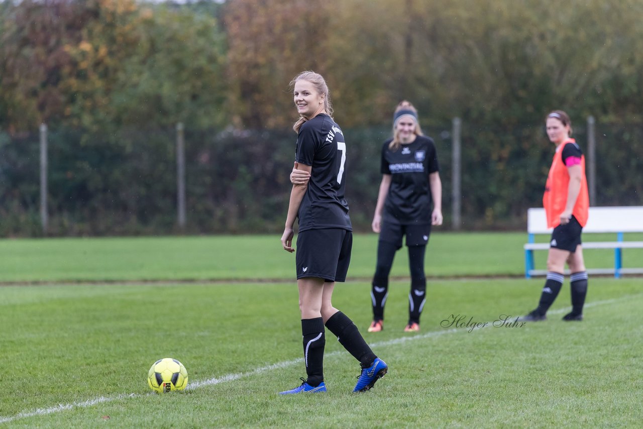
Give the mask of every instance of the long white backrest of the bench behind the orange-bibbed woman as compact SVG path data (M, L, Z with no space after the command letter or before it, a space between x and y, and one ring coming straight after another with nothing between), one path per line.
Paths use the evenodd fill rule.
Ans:
M544 208L527 210L527 232L552 232L552 228L547 228ZM643 232L643 206L590 207L583 232Z

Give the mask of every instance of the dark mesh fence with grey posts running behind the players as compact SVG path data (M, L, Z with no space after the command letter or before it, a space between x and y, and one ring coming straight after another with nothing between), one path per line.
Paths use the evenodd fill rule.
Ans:
M451 225L452 125L424 127L440 161ZM522 230L541 205L554 147L544 127L462 122L459 229ZM390 127L347 129L347 199L356 230L368 230L377 199L379 151ZM185 130L185 225L177 221L177 131L46 134L46 232L38 132L0 132L0 235L132 235L281 232L296 135L292 131ZM584 126L574 137L587 154ZM593 205L641 205L643 125L595 126ZM591 186L591 184L590 184Z

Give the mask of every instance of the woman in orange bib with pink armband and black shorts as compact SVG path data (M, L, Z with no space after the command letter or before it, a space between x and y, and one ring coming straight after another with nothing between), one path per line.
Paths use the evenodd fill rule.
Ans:
M538 307L523 317L528 322L545 320L565 277L565 262L571 274L572 311L563 320L583 320L587 295L587 272L583 260L581 232L587 223L589 196L585 177L585 158L572 135L568 114L555 110L547 115L547 136L556 145L549 169L543 206L547 226L554 228L547 255L547 280Z

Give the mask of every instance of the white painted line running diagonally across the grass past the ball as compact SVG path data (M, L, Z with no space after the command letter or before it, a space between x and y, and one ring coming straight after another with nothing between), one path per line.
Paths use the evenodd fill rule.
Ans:
M632 297L638 297L640 294L637 295L626 295L624 297L620 298L613 298L609 300L603 300L603 301L595 301L595 302L588 302L585 304L585 308L587 307L595 307L595 306L603 306L606 304L613 304L614 302L619 302L622 300L629 300ZM558 309L558 310L552 310L549 311L548 314L550 315L556 315L560 313L567 313L570 311L571 307L566 307L563 309ZM491 326L492 322L487 322L485 324L480 324L480 327L473 327L471 331L477 331L479 329L483 329L484 327ZM384 347L387 345L395 345L395 344L401 344L401 343L406 343L406 342L412 342L412 341L417 341L417 340L424 340L425 338L434 338L446 334L455 334L458 332L468 332L468 329L466 327L462 327L461 329L445 329L443 331L432 331L426 334L420 334L420 335L413 335L413 336L404 336L401 338L394 338L393 340L388 340L388 341L382 341L382 342L376 342L376 343L370 343L371 347ZM330 356L336 356L338 354L343 354L343 351L334 351L330 353L324 354L324 357L330 357ZM212 385L217 385L220 383L225 383L226 381L233 381L233 380L238 380L241 378L246 378L250 376L255 376L257 374L262 374L263 372L269 371L269 370L275 370L275 369L282 369L286 367L290 367L291 365L298 365L302 363L302 359L295 359L295 360L287 360L287 361L282 361L282 362L277 362L273 363L271 365L266 365L265 367L260 367L255 370L252 370L250 372L238 372L236 374L226 374L225 376L221 377L216 377L216 378L208 378L205 380L201 381L191 381L188 387L186 389L194 389L194 388L199 388L199 387L204 387L204 386L212 386ZM154 392L149 392L146 394L137 394L137 393L123 393L120 395L116 396L101 396L101 397L96 397L94 399L87 399L87 401L80 401L80 402L75 402L71 404L59 404L55 406L50 406L48 408L36 408L33 411L28 411L28 412L19 412L16 415L8 416L8 417L3 417L0 416L0 424L1 423L8 423L10 421L18 420L18 419L24 419L26 417L34 417L36 415L46 415L46 414L53 414L56 412L64 411L64 410L71 410L73 408L86 408L87 406L93 406L96 404L100 403L105 403L105 402L111 402L111 401L118 401L119 399L126 399L128 397L142 397L142 396L149 396L149 395L154 395Z

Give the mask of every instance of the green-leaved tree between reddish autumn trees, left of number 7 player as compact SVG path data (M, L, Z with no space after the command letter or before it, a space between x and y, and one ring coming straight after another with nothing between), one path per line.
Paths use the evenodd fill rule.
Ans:
M144 8L113 91L114 121L199 129L228 118L225 40L214 17L165 5Z

